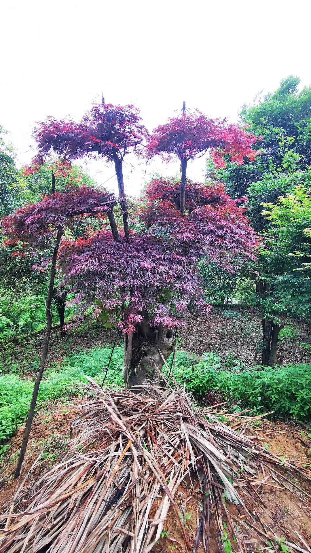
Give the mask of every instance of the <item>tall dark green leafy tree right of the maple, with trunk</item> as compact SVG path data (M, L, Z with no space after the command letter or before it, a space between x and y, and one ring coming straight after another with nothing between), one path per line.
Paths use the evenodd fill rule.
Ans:
M247 195L244 204L247 215L253 228L263 237L253 269L259 273L256 291L262 307L262 362L272 366L276 363L282 316L308 317L303 306L309 298L309 280L293 263L293 256L297 258L297 251L301 252L300 238L292 234L293 229L286 220L281 223L282 232L287 235L288 242L296 244L298 240L298 248L282 242L281 227L263 212L265 205L269 205L266 211L274 205L278 206L276 213L280 214L279 197L288 201L287 195L297 195L299 186L305 194L310 190L311 87L299 92L298 86L299 79L289 76L281 81L276 92L242 108L242 122L253 134L262 137L262 142L256 144L261 155L251 162L245 158L244 165L227 159L226 168L216 171L216 177L225 183L232 197Z

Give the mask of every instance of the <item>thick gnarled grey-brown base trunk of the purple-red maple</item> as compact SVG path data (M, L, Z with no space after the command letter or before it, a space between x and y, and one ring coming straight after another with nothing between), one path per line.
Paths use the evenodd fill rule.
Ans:
M123 379L126 387L144 393L159 386L160 372L173 352L175 335L167 327L151 328L142 323L124 338Z

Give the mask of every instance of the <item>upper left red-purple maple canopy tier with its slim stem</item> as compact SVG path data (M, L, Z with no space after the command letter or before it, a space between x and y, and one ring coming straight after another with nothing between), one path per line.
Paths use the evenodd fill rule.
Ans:
M148 137L141 123L139 110L134 106L113 106L101 102L86 112L79 123L58 121L50 117L34 131L38 155L34 164L42 164L50 152L55 152L64 161L84 156L100 155L115 164L123 228L129 238L128 211L123 182L122 161L129 148L137 149ZM116 229L113 231L118 239Z

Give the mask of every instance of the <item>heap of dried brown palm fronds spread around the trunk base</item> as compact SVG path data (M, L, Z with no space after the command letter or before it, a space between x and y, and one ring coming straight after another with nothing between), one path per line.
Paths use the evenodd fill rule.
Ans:
M91 391L90 403L72 425L75 437L63 461L33 483L30 498L19 502L23 511L14 513L12 505L2 518L1 553L147 553L157 544L169 509L185 551L211 551L211 528L220 551L230 550L229 534L235 551L249 551L235 520L252 531L261 550L279 550L276 529L247 507L257 504L265 511L258 471L261 467L265 475L268 467L269 476L291 489L298 489L291 480L297 469L305 478L311 474L247 437L252 418L240 413L226 420L215 408L198 409L178 386L136 395L107 392L91 382ZM196 536L189 535L176 500L185 481L193 484L193 493L201 492ZM311 551L298 533L296 543L288 539L283 551Z

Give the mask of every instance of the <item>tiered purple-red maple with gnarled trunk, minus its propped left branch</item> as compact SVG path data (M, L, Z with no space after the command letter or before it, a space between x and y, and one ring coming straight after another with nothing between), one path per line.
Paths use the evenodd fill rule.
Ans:
M155 131L148 152L176 154L184 168L188 159L209 148L219 160L228 152L240 156L240 163L242 156L256 155L250 149L255 137L200 113L171 119L168 126ZM79 309L92 305L94 316L105 310L122 331L123 377L138 391L158 385L189 301L201 311L210 310L197 274L200 258L215 261L221 252L222 263L233 271L254 257L256 244L247 218L222 187L186 187L185 171L182 187L163 180L148 186L146 206L136 214L143 222L141 231L129 232L122 160L143 137L147 132L136 108L105 103L92 108L81 123L50 118L35 131L41 160L54 151L67 161L99 154L115 163L124 233L110 217L111 232L63 241L59 260L64 285L75 291Z

